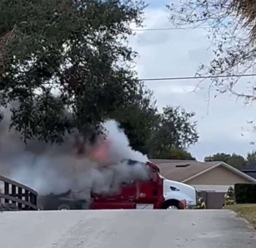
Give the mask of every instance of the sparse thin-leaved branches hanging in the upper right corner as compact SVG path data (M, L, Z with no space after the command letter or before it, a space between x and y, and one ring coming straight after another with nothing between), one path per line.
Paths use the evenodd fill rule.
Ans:
M251 0L184 0L179 6L168 5L174 25L208 30L207 38L213 47L214 58L209 65L199 66L196 76L211 78L209 91L229 92L242 97L245 103L256 99L256 83L247 81L248 92L239 91L241 76L253 73L256 64L256 2ZM225 77L229 76L229 77ZM243 87L244 89L245 87Z

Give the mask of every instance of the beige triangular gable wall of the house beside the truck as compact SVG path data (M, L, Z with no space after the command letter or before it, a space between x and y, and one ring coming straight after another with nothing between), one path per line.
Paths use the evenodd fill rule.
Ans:
M250 183L250 181L223 166L218 166L209 170L209 172L186 181L186 184L192 185L234 185L235 183Z

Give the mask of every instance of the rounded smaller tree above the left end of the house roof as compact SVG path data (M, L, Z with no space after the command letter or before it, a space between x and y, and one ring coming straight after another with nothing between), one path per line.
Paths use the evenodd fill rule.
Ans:
M196 122L191 121L194 115L194 112L186 112L180 107L163 108L156 130L148 142L149 157L170 154L172 149L186 150L195 144L199 136Z

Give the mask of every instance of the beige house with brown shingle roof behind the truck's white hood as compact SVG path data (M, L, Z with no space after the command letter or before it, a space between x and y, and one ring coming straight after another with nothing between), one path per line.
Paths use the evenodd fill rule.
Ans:
M206 201L207 208L222 208L224 194L236 183L256 183L256 179L224 162L150 159L167 179L189 184Z

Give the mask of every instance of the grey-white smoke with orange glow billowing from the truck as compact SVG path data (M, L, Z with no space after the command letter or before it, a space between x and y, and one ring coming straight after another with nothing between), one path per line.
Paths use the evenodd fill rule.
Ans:
M78 156L73 135L61 146L35 140L25 145L18 133L8 132L9 120L7 109L0 122L0 175L35 189L39 195L72 190L87 199L90 191L117 194L122 183L149 179L147 157L132 150L115 121L103 124L106 139L99 137L94 145L86 144L86 153ZM131 165L121 162L123 159L139 162Z

